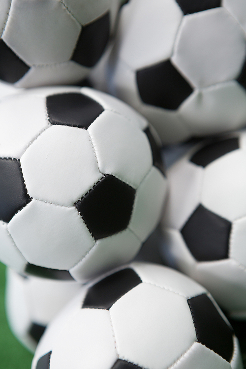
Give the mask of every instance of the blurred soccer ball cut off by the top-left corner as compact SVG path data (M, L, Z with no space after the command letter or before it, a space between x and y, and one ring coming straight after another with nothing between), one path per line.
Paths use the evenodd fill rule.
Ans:
M72 84L98 62L120 0L4 0L0 80L16 87Z

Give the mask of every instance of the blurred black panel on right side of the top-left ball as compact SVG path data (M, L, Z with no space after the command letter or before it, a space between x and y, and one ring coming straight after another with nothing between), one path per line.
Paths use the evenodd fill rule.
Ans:
M92 23L82 27L72 60L92 67L100 59L110 35L110 15L107 12Z

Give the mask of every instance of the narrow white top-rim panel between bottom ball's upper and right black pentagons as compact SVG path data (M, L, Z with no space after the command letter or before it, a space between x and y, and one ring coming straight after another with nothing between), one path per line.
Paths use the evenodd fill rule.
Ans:
M131 267L145 283L173 291L187 299L206 293L206 289L193 279L174 269L150 263L132 263Z

